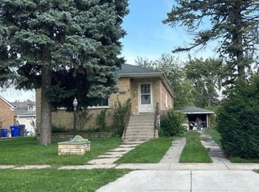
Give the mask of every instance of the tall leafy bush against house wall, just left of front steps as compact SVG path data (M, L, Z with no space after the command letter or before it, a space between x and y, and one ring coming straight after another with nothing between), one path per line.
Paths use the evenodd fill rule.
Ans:
M114 135L121 137L124 131L124 121L126 118L127 112L130 110L131 99L126 100L124 103L120 102L119 98L114 104L114 115L113 115L113 127Z

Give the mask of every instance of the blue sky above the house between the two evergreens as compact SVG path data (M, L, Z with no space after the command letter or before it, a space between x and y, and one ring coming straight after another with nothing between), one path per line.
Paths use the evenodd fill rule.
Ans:
M122 40L123 53L128 64L134 64L137 56L150 60L159 58L163 53L170 53L179 45L192 42L193 37L183 27L171 28L162 24L174 4L174 0L129 0L130 13L124 19L124 28L128 35ZM203 24L206 27L206 24ZM203 51L191 51L192 57L214 57L214 47L208 46ZM175 53L185 61L188 53Z

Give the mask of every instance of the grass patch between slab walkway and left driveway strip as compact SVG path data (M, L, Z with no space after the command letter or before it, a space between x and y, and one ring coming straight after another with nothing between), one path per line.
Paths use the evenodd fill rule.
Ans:
M173 141L172 137L151 139L123 155L115 163L158 163Z

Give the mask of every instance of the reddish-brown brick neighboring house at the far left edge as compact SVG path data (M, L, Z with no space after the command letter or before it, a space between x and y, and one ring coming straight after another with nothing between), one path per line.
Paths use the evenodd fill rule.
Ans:
M3 128L8 128L14 124L15 107L0 95L0 122Z

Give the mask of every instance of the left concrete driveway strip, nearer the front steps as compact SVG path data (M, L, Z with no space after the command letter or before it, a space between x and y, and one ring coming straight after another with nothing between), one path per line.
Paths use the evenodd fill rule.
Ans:
M173 141L171 147L161 159L160 163L178 163L185 143L185 138L178 138Z

